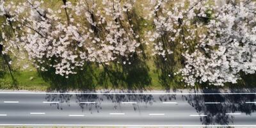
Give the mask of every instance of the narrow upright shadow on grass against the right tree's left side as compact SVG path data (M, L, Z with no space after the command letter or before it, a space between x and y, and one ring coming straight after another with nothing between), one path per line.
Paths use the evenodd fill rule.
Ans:
M165 90L182 88L184 83L180 82L180 77L175 76L175 72L178 72L182 67L184 60L181 56L182 47L173 42L168 42L166 37L168 34L163 35L160 42L163 42L163 49L167 51L170 49L173 53L166 54L165 58L163 56L156 56L154 58L154 64L157 68L157 74L159 78L159 83L163 86Z

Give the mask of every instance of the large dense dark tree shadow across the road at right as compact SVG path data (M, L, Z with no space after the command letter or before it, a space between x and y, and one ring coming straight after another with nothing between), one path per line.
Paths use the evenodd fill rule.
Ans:
M196 93L197 91L195 91ZM248 92L254 92L249 91ZM193 93L193 92L191 92ZM202 90L202 93L221 93L220 90ZM234 115L225 113L245 113L251 115L256 111L255 104L246 104L256 99L256 95L183 95L184 99L196 109L201 116L200 121L203 125L228 125L234 123ZM205 102L220 102L220 104L205 104Z

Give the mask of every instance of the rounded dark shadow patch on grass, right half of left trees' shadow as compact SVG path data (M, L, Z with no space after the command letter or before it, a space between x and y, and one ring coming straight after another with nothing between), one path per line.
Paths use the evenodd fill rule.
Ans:
M131 64L129 64L131 62ZM99 75L99 84L105 88L141 90L151 83L147 63L134 55L129 62L103 65L104 71ZM110 85L110 86L109 86Z

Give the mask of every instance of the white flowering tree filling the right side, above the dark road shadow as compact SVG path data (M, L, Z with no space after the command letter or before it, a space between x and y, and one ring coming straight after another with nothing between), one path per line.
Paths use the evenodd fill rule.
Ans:
M180 43L186 58L180 73L186 83L236 83L239 72L256 70L256 6L253 1L152 1L156 31L154 54ZM167 8L173 3L172 8Z

